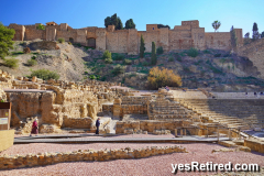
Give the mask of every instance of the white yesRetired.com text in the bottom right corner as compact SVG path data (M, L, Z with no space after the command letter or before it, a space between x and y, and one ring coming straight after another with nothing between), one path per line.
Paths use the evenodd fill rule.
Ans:
M191 162L190 164L172 164L172 173L177 172L260 172L257 164L218 164L207 162L206 164L199 164L198 162Z

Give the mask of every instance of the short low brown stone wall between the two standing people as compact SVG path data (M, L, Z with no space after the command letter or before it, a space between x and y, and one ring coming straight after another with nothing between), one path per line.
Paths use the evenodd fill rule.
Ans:
M90 129L91 122L91 118L64 118L63 127L74 129Z

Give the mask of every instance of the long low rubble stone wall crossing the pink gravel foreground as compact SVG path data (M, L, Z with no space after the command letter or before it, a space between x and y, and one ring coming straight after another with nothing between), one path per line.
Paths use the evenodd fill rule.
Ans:
M82 162L82 161L111 161L111 160L125 160L125 158L142 158L169 153L187 153L186 148L182 146L165 146L165 147L146 147L139 150L85 150L66 153L41 153L28 154L15 156L0 156L0 169L23 168L32 166L44 166L63 162Z

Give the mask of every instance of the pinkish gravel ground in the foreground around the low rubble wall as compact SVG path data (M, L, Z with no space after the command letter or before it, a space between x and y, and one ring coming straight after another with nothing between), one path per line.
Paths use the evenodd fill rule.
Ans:
M122 148L130 146L132 148L145 146L165 146L173 144L21 144L14 145L1 154L25 154L52 151L76 151L82 148ZM172 164L190 164L191 162L199 163L256 163L264 166L264 154L246 153L246 152L217 152L211 153L212 150L222 148L218 144L179 144L187 148L189 153L174 153L167 155L152 156L141 160L117 160L108 162L74 162L61 163L43 167L30 167L12 170L2 170L0 175L7 176L23 176L23 175L173 175ZM207 175L213 173L180 173L177 175Z

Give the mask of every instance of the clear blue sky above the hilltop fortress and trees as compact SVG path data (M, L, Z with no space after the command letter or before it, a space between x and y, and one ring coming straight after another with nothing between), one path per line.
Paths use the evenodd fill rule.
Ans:
M173 29L182 21L199 20L206 32L215 32L211 23L219 20L219 32L229 32L233 25L252 36L254 22L260 33L264 31L263 7L264 0L0 0L0 22L105 28L105 19L117 13L123 24L133 19L138 31L145 31L146 24Z

